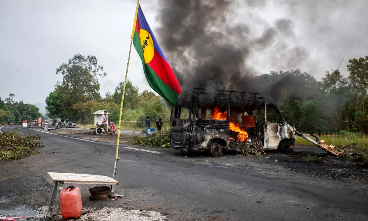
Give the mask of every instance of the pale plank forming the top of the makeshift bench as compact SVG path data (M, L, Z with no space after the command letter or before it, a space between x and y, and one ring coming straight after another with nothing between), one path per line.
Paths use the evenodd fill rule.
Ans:
M55 173L47 172L51 179L63 182L89 182L89 183L119 183L108 176L80 174L80 173Z

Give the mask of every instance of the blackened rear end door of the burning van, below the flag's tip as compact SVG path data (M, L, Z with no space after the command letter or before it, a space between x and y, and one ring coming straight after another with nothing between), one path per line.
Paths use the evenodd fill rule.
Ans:
M170 143L172 147L189 148L191 112L176 106L171 110Z

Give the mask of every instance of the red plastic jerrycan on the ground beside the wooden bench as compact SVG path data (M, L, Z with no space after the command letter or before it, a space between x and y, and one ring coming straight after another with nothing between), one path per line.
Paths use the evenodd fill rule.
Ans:
M82 215L81 190L78 186L68 186L59 193L61 216L64 220Z

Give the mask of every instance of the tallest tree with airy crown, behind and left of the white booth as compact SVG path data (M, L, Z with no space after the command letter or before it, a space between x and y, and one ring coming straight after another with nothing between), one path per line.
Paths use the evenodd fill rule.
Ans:
M63 81L55 85L61 97L61 111L71 120L82 117L72 108L73 104L101 100L98 77L105 77L106 72L95 56L85 57L78 53L56 69L56 74L63 76Z

